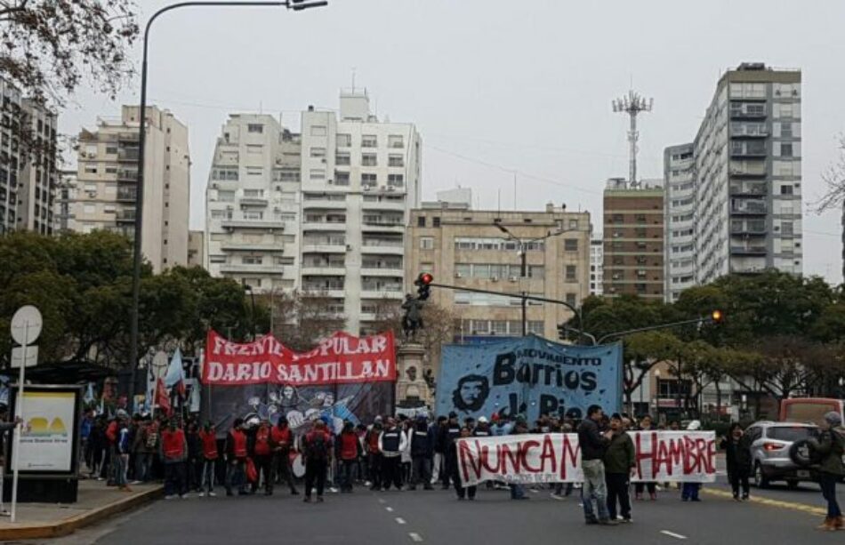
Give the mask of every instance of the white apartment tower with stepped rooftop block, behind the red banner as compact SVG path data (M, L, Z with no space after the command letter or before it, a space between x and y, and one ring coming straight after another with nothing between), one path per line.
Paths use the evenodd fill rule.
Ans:
M302 112L300 287L368 332L374 309L400 301L405 230L420 204L422 141L414 124L382 122L366 92L342 92L340 116Z

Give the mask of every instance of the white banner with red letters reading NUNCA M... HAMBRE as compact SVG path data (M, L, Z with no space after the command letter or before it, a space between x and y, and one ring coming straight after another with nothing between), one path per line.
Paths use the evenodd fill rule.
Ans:
M712 483L716 480L713 431L631 431L637 481ZM514 484L579 483L581 447L574 433L458 439L463 485L495 480Z

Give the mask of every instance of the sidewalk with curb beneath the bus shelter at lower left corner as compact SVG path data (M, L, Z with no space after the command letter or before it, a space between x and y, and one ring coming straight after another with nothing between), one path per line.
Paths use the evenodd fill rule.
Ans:
M92 525L127 509L156 500L163 493L162 485L132 486L132 492L120 492L104 481L80 480L76 503L19 503L14 524L9 517L0 517L0 541L52 538L74 533L77 528ZM12 509L4 504L7 511Z

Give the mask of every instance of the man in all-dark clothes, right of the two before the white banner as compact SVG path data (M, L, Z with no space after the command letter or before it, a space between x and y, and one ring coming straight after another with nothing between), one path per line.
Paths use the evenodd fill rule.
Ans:
M622 416L615 413L610 417L610 430L613 435L603 459L605 481L608 484L608 516L610 520L616 520L618 501L623 522L631 522L631 496L628 489L631 485L630 476L637 465L637 455Z

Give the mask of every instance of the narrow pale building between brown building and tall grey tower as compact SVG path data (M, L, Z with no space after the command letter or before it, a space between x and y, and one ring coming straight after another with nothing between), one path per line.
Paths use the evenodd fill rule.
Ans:
M696 183L693 145L671 146L664 151L664 225L666 302L696 285Z

